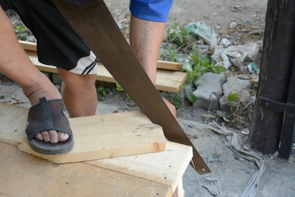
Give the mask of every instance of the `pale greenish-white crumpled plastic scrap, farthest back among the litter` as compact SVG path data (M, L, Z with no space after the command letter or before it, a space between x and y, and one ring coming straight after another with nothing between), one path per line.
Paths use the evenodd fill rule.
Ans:
M187 26L189 33L202 37L211 48L217 45L217 34L213 28L208 27L203 21L190 23Z

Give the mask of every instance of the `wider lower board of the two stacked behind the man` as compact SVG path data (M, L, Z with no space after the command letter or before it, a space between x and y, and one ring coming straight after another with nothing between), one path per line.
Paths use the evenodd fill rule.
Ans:
M37 54L35 51L26 51L26 52L27 52L27 55L29 56L29 59L40 71L58 73L58 70L55 66L48 66L48 65L41 64L38 61ZM178 93L178 91L180 90L180 87L185 82L186 77L187 75L184 72L157 69L155 87L157 88L157 90L160 90L160 91ZM96 80L116 83L116 80L114 79L114 77L100 63L97 64Z

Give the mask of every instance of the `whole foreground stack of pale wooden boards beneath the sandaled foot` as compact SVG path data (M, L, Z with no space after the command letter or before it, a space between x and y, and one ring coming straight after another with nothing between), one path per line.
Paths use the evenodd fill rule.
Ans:
M28 110L0 103L0 196L184 196L192 147L165 142L141 111L69 119L75 148L45 156L25 140Z

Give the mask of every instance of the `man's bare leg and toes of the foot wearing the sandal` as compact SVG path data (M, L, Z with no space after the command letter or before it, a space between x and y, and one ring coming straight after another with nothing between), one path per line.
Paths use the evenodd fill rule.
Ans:
M0 7L0 73L19 83L31 105L39 103L40 97L60 99L59 91L51 81L41 73L29 60L18 42L13 26ZM57 131L42 131L35 137L39 140L58 142ZM64 141L68 135L60 137Z

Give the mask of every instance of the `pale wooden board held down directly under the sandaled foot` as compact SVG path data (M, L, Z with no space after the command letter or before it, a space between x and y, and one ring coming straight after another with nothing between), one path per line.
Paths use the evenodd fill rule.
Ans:
M98 160L165 151L162 127L140 111L69 118L75 145L62 155L41 155L29 147L27 137L17 141L19 150L57 164Z

